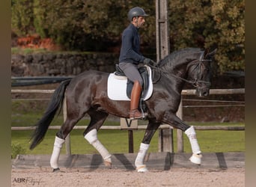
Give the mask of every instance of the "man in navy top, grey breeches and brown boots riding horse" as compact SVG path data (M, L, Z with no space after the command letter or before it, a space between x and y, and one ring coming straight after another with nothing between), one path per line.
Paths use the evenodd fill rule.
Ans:
M130 24L124 29L122 34L121 52L119 57L119 67L124 71L127 78L133 82L131 102L130 102L130 119L139 119L146 117L147 113L141 114L138 111L138 102L141 96L141 88L143 81L140 73L138 73L138 64L153 63L150 58L145 58L139 52L140 37L138 28L144 24L144 16L148 16L141 7L132 7L128 13Z

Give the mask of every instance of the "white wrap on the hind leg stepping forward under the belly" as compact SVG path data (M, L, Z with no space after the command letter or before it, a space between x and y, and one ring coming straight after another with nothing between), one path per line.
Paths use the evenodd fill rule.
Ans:
M85 139L92 145L94 148L100 153L100 155L103 157L103 160L107 162L111 161L111 154L108 150L103 146L103 144L100 143L100 141L97 138L97 130L92 129L90 132L88 132L85 135Z

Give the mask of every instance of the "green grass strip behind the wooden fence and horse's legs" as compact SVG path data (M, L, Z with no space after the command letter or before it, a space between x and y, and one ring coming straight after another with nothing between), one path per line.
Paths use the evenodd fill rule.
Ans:
M41 114L16 114L12 116L12 126L33 126L34 122L39 120ZM52 126L61 125L62 117L57 117ZM145 121L139 120L139 125ZM88 120L83 119L77 125L85 126ZM219 123L189 123L195 126L213 126ZM104 125L119 125L118 121L107 120ZM243 126L243 123L222 123L222 126ZM43 141L34 148L29 150L29 139L33 131L12 131L11 143L19 144L24 150L25 154L51 154L53 142L55 140L55 133L58 130L48 130ZM88 144L88 141L82 135L83 130L73 129L70 133L71 151L73 154L92 154L97 151ZM144 136L144 130L135 130L133 132L134 151L138 152L138 147ZM236 152L245 151L245 132L244 131L197 131L198 143L204 153L218 153L218 152ZM105 145L110 153L128 153L128 132L127 130L100 130L98 132L99 140ZM184 152L191 153L189 140L184 135ZM174 130L174 152L177 150L177 136ZM150 143L149 152L158 152L158 132L153 136ZM61 150L65 153L65 147Z

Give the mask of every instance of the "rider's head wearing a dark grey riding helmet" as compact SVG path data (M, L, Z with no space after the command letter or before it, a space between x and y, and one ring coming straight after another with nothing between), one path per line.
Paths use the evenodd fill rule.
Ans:
M135 27L140 28L144 24L144 16L148 16L141 7L132 7L128 13L128 19Z

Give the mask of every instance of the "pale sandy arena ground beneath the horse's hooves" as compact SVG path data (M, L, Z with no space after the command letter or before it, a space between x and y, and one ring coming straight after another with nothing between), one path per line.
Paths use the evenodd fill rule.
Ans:
M245 186L245 169L171 168L147 173L122 169L13 169L12 186Z

